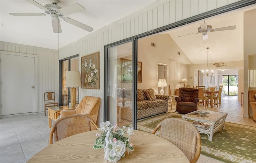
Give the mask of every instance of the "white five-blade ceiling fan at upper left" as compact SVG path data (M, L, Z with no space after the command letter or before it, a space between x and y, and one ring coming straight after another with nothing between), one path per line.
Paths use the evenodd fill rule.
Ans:
M62 32L59 18L63 18L65 22L73 24L74 26L82 28L83 30L86 30L88 32L92 32L93 30L92 27L82 24L81 22L78 22L68 17L63 17L64 15L85 11L84 7L78 3L62 8L57 5L58 3L60 3L59 0L51 0L52 2L51 4L46 4L44 6L42 6L41 4L39 4L34 0L26 0L26 1L41 8L42 10L44 10L46 14L50 14L52 18L52 28L54 33ZM43 14L43 13L9 13L9 14L13 16L46 16L46 14Z

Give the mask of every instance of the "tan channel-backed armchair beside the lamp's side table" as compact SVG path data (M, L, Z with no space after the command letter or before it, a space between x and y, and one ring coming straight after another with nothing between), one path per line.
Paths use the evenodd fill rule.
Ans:
M84 96L78 103L78 106L74 110L62 110L60 111L60 117L64 117L72 114L84 114L90 117L95 123L97 123L98 111L100 107L100 97ZM92 128L95 128L91 125Z

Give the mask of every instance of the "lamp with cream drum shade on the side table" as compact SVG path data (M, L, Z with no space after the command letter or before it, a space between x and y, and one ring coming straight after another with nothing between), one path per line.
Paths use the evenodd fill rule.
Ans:
M76 87L82 87L80 72L66 72L66 87L70 87L71 107L76 106Z

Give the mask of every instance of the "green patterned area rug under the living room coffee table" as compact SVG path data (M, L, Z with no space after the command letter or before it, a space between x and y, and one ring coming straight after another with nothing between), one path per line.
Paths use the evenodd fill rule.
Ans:
M156 125L169 117L182 118L179 113L164 113L138 121L138 130L151 133ZM156 132L159 135L159 131ZM201 154L225 163L256 163L256 127L225 122L225 129L214 133L212 141L201 134Z

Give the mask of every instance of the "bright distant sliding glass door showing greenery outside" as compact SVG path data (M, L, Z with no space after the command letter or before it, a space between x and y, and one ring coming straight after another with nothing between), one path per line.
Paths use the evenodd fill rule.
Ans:
M225 95L238 96L238 75L222 75Z

